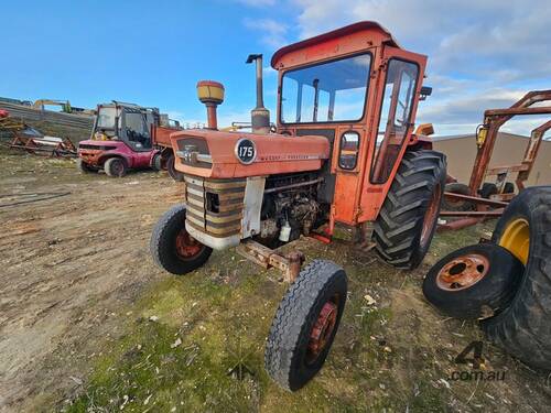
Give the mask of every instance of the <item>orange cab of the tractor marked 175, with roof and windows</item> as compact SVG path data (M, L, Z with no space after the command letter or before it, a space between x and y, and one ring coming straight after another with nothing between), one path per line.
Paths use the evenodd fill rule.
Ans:
M376 22L359 22L282 47L278 132L331 142L334 219L374 220L408 144L426 56L401 48Z

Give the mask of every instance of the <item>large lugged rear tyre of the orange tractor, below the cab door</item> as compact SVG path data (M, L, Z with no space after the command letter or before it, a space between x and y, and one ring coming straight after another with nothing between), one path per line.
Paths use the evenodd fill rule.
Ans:
M386 262L407 270L421 263L436 229L445 180L444 154L406 152L375 221L376 250Z

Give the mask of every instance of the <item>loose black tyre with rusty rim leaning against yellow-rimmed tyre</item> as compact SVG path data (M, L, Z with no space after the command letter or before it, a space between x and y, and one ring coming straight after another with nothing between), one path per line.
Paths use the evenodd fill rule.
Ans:
M423 281L423 294L441 313L461 319L491 317L507 308L522 263L505 248L478 243L436 262Z

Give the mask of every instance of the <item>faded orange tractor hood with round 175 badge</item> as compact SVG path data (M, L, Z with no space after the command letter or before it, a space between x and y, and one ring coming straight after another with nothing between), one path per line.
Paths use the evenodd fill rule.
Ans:
M210 178L315 171L329 157L323 137L203 129L172 133L171 143L177 171Z

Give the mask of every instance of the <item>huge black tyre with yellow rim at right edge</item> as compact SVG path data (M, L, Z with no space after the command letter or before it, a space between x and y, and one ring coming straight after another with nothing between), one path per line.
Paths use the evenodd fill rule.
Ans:
M487 337L527 365L551 370L551 186L522 191L498 219L493 241L522 263L512 303L483 322Z

